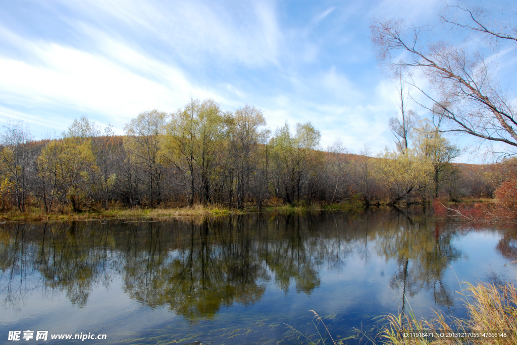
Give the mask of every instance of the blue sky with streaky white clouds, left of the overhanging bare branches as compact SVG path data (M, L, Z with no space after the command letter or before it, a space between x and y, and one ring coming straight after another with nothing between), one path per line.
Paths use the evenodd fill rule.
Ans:
M111 122L183 107L264 111L271 130L311 121L322 145L392 147L396 83L376 64L374 17L436 23L443 1L3 1L0 120L42 138L74 118ZM410 104L425 116L425 112Z

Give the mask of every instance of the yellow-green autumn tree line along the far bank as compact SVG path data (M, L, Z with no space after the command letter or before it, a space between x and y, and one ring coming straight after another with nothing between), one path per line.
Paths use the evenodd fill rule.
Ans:
M1 134L1 208L262 209L268 203L490 198L492 168L452 163L458 147L430 121L414 120L405 128L405 120L392 119L397 150L376 157L366 146L348 154L340 140L322 149L311 123L285 123L271 133L261 110L223 111L213 100L191 99L174 113L141 112L124 126L124 136L83 117L57 139L35 141L23 122L10 122ZM404 138L397 136L401 130Z

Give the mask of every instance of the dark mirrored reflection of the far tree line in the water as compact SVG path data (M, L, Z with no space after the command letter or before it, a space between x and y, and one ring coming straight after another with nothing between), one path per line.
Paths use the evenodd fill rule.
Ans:
M4 224L0 229L0 294L20 308L27 294L65 292L82 307L93 289L123 277L124 292L151 308L166 306L186 319L212 318L223 307L260 301L267 282L286 294L309 295L322 269L342 270L350 257L397 262L390 287L405 297L431 290L451 307L444 273L462 257L453 224L424 213L377 210L361 214L245 215L201 221ZM497 250L517 256L516 233ZM373 274L373 273L372 273Z

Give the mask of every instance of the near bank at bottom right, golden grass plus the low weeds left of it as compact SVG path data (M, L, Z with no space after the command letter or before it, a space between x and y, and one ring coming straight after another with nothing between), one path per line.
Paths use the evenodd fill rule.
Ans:
M286 337L303 345L344 345L353 343L383 345L515 345L517 344L517 289L513 283L504 285L468 285L462 293L468 311L467 319L448 318L437 312L432 320L417 319L410 310L405 315L389 315L372 337L372 331L355 329L352 335L334 339L332 333L314 310L312 324L316 334L307 335L287 326ZM375 340L374 338L377 338Z

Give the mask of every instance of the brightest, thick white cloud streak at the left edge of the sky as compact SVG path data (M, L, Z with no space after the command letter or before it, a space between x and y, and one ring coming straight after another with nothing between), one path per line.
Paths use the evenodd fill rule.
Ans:
M26 44L31 63L0 56L0 100L18 106L30 100L33 106L103 114L121 126L142 110L173 111L183 106L191 94L222 99L192 85L171 64L154 60L109 37L99 36L98 41L105 56L55 43ZM4 114L7 113L5 110ZM13 112L12 116L20 114Z

